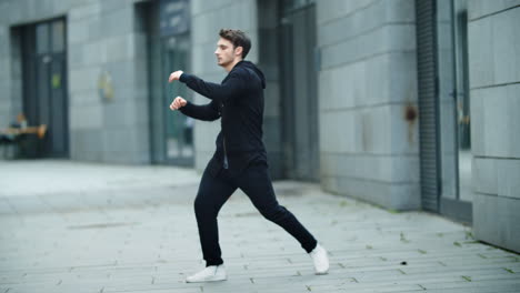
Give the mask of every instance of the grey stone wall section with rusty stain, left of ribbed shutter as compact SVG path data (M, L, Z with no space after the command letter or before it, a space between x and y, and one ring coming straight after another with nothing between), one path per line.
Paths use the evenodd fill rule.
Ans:
M418 209L414 1L317 1L321 184ZM417 117L417 114L416 114Z

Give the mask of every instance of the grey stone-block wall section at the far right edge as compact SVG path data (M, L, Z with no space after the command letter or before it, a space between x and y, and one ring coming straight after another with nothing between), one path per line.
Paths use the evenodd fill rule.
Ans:
M468 4L474 234L520 251L520 1Z

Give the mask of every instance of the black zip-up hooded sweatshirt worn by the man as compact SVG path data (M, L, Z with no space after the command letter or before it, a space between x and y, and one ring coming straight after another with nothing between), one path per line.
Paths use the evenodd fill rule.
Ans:
M222 170L224 156L233 176L251 163L267 164L262 142L266 79L260 69L249 61L240 61L220 84L187 73L182 73L179 80L211 100L204 105L188 102L180 108L183 114L203 121L221 118L221 131L216 141L217 151L208 164L213 176Z

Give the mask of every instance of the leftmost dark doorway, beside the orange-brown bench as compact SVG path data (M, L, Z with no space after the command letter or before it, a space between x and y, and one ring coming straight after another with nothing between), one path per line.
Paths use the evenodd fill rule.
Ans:
M31 156L69 156L66 29L64 19L21 28L23 112L29 124L47 125Z

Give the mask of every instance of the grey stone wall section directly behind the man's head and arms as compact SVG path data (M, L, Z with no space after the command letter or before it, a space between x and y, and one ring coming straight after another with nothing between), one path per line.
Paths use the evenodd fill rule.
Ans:
M252 42L246 58L258 61L258 21L256 0L191 1L191 68L198 77L218 82L227 72L217 64L214 50L221 28L241 29ZM194 103L206 104L209 100L194 95ZM194 125L196 168L203 170L214 152L214 140L220 130L220 120L208 123L197 121Z

